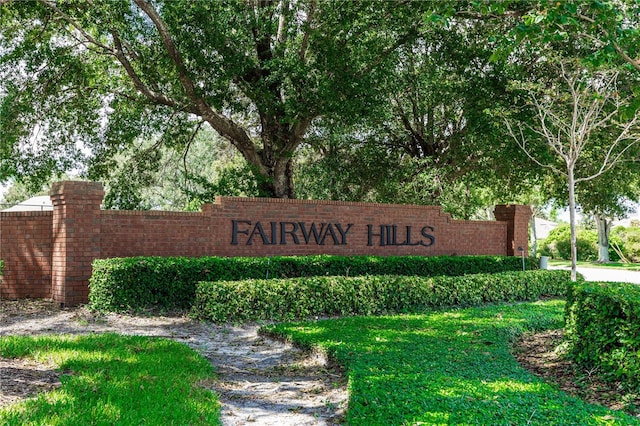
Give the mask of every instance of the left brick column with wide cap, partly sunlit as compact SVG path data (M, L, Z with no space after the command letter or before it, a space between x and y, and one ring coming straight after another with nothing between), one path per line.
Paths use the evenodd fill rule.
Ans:
M65 306L86 303L91 263L100 256L102 184L56 182L49 196L53 204L53 300Z

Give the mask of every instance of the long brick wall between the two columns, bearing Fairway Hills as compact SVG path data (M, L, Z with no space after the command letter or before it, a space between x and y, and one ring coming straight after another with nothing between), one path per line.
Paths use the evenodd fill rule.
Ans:
M201 213L103 211L100 257L504 255L507 228L507 222L451 220L433 206L218 197Z

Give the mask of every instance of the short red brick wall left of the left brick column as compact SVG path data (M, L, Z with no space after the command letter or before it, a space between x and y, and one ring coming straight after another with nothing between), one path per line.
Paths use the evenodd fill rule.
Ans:
M0 212L0 297L51 297L53 212Z

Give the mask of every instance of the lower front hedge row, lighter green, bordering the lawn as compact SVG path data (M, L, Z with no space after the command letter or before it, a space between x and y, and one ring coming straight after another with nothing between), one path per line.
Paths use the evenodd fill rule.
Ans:
M568 271L528 271L201 282L191 315L227 323L420 312L563 296L570 279Z

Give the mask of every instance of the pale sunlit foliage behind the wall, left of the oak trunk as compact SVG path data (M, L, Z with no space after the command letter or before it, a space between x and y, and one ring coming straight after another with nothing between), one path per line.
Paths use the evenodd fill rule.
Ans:
M263 195L242 156L211 130L198 132L183 150L156 143L134 143L113 157L99 178L105 208L198 210L218 195Z

